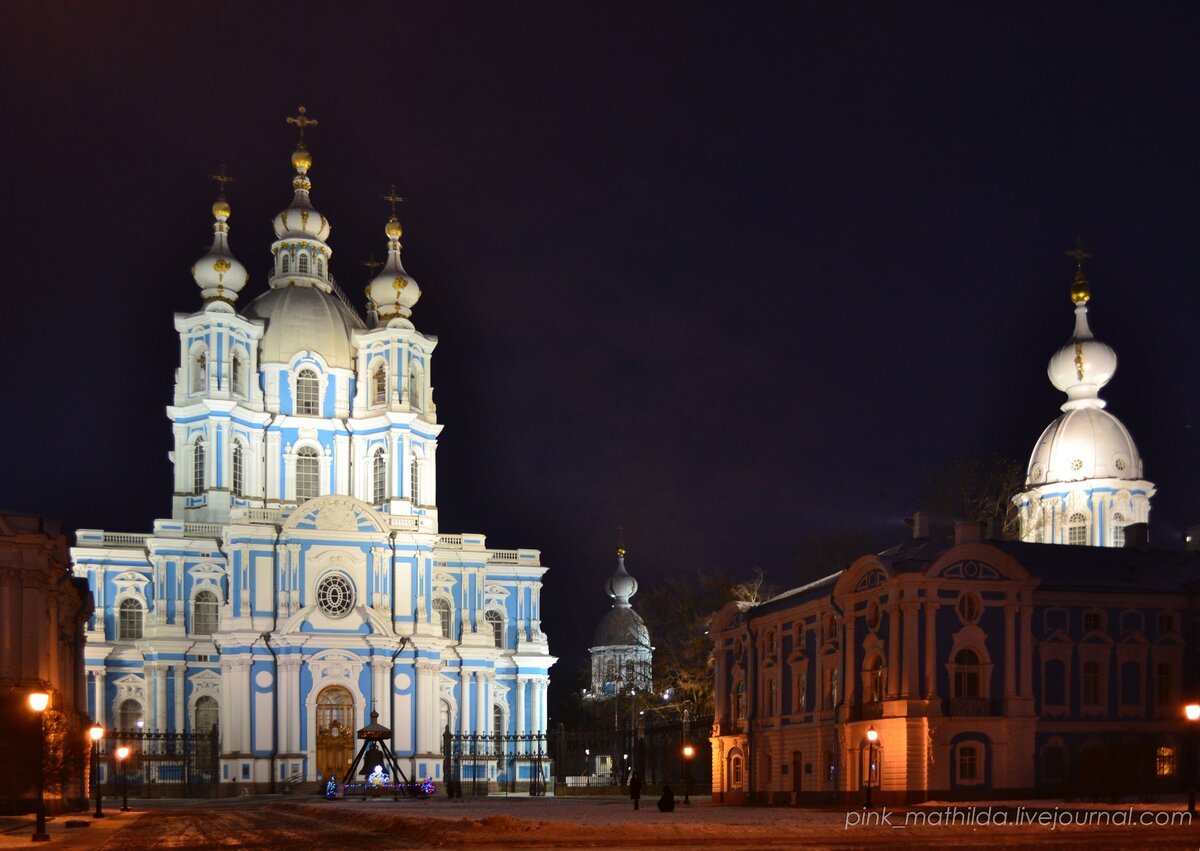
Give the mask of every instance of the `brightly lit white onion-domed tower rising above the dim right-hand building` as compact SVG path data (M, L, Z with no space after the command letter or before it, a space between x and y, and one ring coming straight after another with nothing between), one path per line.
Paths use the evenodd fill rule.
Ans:
M1087 323L1090 259L1081 244L1070 300L1075 330L1050 358L1050 383L1067 394L1062 414L1038 438L1026 468L1025 489L1013 497L1024 541L1123 546L1126 528L1150 520L1154 485L1144 478L1138 447L1099 391L1112 379L1117 355L1092 335Z

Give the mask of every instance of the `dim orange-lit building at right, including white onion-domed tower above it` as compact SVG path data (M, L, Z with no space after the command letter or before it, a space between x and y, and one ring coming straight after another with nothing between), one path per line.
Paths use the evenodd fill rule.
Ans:
M1075 330L1049 365L1067 403L1014 498L1021 540L978 522L938 538L918 514L910 540L713 618L715 799L1182 787L1200 552L1148 546L1154 489L1098 397L1116 355L1090 295L1079 270Z

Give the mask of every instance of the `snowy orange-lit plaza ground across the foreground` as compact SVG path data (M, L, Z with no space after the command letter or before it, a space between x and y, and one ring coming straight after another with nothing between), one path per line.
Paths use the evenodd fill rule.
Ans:
M1177 801L1102 807L1064 802L928 805L911 810L721 807L708 798L659 813L625 798L487 797L340 801L259 796L214 802L136 801L106 819L60 816L52 847L1042 847L1196 849L1200 820ZM90 826L67 827L67 822ZM868 823L869 822L869 823ZM1020 822L1020 823L1018 823ZM1082 822L1082 823L1081 823ZM29 846L32 822L0 825L0 847Z

